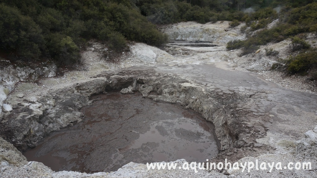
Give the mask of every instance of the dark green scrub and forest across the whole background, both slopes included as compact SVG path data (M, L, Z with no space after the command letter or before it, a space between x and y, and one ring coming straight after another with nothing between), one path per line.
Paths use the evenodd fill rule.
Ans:
M248 27L256 30L277 18L277 12L282 9L287 14L287 25L264 31L262 36L250 38L251 41L229 44L229 48L245 47L248 51L275 39L317 31L316 25L312 25L316 24L317 16L314 1L2 0L0 53L12 59L52 59L61 65L71 65L78 62L80 48L92 38L104 41L114 51L126 50L127 41L160 47L167 42L167 36L157 30L158 24L228 20L236 26L245 21ZM310 20L303 19L303 16ZM269 36L274 39L265 37L267 34L273 34ZM252 40L258 41L253 44Z

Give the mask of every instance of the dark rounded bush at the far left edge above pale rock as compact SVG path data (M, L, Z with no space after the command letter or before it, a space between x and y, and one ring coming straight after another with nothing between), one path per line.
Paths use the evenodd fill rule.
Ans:
M29 60L39 58L44 48L40 27L16 8L0 4L0 49L15 51Z

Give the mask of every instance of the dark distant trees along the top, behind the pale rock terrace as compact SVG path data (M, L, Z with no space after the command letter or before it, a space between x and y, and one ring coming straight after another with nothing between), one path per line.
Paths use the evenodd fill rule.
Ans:
M274 13L273 8L305 6L314 0L138 0L135 5L142 15L156 24L197 21L200 23L215 21L247 21L262 19L264 15ZM251 13L251 14L250 14ZM260 26L254 27L260 28Z

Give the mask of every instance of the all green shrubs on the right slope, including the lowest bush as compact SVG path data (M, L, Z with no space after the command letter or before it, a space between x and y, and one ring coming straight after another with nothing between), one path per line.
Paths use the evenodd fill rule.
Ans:
M290 51L298 51L299 54L289 57L286 61L287 70L291 73L307 73L307 70L311 68L316 69L317 49L311 48L309 43L305 41L305 33L311 32L317 36L317 3L313 1L302 2L306 3L298 4L295 6L296 8L284 6L281 8L280 14L272 11L272 9L270 10L270 8L251 13L245 19L246 27L243 29L249 27L249 32L257 29L261 30L249 35L246 40L228 42L227 49L242 48L240 55L246 55L255 52L259 45L266 45L269 42L280 42L290 38L292 41ZM275 27L262 29L277 18L280 19L280 22ZM270 53L270 51L267 51L267 54Z

